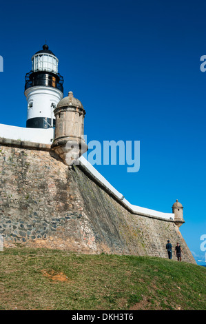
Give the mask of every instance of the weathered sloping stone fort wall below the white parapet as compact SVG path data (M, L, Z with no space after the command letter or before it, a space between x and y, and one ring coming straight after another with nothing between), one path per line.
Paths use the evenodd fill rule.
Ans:
M167 258L169 238L195 263L173 221L132 213L85 167L68 168L49 150L0 147L0 219L5 247Z

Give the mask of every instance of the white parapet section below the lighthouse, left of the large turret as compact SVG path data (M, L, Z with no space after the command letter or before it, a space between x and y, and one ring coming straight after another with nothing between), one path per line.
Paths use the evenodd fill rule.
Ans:
M54 129L23 128L0 124L0 137L17 141L51 144L54 137Z

